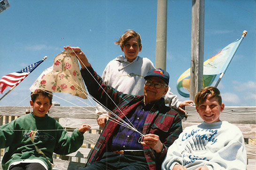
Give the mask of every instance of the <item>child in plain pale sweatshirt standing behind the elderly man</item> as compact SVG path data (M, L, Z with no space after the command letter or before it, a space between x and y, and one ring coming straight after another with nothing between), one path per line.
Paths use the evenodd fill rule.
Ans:
M115 44L120 45L124 56L118 56L113 59L106 66L102 74L104 84L113 87L114 89L129 95L143 95L144 78L147 72L155 68L150 59L138 56L142 49L140 34L134 30L127 30L120 37ZM182 109L185 105L193 103L192 100L180 102L177 95L173 95L169 88L164 97L165 103L169 104L171 108L178 109L185 113ZM104 110L101 105L97 105L96 110L98 124L101 127L105 126L105 122L111 115L108 111Z

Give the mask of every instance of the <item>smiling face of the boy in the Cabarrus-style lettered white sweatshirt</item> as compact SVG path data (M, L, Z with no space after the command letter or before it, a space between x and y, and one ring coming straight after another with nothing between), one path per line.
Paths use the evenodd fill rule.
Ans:
M206 123L218 122L219 114L224 110L224 103L221 105L217 101L217 97L207 98L202 104L195 106L196 111Z

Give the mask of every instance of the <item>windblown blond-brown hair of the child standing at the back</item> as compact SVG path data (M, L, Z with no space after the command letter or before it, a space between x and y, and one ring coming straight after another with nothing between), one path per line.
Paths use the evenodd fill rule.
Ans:
M141 44L140 34L135 32L134 30L125 31L124 34L119 38L119 40L115 42L115 44L120 45L121 47L124 47L124 44L133 37L137 38L139 47L141 47L142 44Z

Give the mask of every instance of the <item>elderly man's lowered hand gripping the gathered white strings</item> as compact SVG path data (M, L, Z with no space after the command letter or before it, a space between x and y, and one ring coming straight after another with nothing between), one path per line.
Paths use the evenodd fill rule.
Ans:
M163 143L159 140L159 136L152 133L146 134L140 144L154 149L156 153L161 153L164 147Z

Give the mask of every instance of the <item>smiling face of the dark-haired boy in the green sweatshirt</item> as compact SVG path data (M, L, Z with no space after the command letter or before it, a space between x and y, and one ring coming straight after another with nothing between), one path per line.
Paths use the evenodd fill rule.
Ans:
M36 97L35 101L30 101L30 105L33 108L33 114L38 117L45 117L46 113L52 106L50 99L47 96L40 94Z

